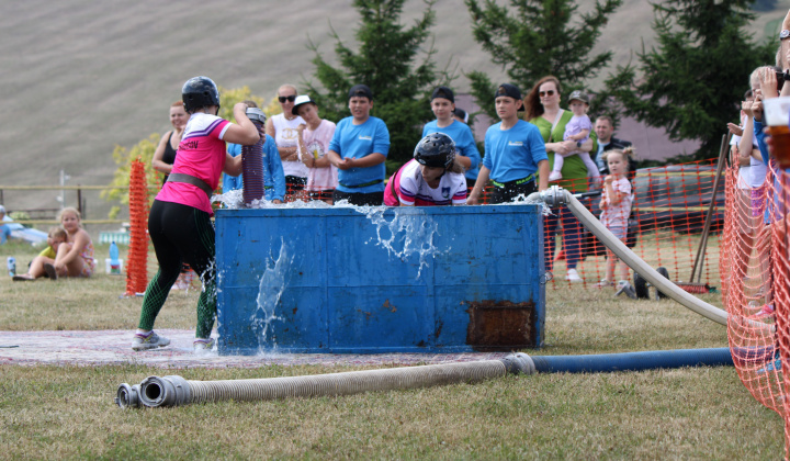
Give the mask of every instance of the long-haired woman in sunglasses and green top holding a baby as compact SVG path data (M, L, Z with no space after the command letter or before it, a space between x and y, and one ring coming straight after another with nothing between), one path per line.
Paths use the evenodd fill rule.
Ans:
M574 150L589 153L597 139L592 132L584 143L563 140L565 125L573 117L573 112L560 108L561 91L560 79L546 76L538 80L524 100L527 106L524 120L540 130L546 146L550 168L554 168L555 155L565 155ZM563 179L557 182L560 187L572 193L587 192L587 167L579 156L565 157L561 172ZM567 207L562 207L556 215L546 217L544 225L546 269L551 270L552 268L554 234L561 220L565 262L567 263L565 280L580 282L582 278L576 271L576 266L582 259L582 225Z

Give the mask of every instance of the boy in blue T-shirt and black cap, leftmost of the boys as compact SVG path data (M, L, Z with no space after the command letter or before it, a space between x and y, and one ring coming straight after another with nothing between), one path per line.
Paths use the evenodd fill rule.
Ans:
M337 124L329 143L329 161L338 168L338 187L332 200L352 205L384 202L384 160L390 151L390 131L383 120L371 116L373 92L365 85L349 91L351 116Z

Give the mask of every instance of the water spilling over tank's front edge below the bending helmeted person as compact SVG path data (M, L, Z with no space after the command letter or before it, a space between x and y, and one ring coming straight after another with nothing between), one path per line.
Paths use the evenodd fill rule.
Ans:
M410 209L416 213L400 213L400 209L388 209L386 206L357 206L356 210L370 220L376 227L376 245L385 248L390 256L405 259L411 255L419 255L419 268L417 278L422 273L422 268L428 267L429 258L447 252L437 248L435 236L439 233L439 224L420 209ZM394 217L386 221L384 212L392 210ZM390 237L382 236L382 229L387 229ZM368 244L373 243L371 237ZM403 245L402 250L396 248Z

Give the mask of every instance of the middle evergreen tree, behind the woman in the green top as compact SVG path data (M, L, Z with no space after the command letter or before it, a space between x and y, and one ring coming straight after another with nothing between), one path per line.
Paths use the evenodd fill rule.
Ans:
M553 75L565 95L584 88L611 60L612 53L590 56L609 15L622 0L596 0L588 13L575 14L573 0L465 0L472 16L475 41L505 69L510 83L527 92L541 77ZM573 21L574 16L578 19ZM466 75L472 93L483 110L496 120L492 95L497 85L483 71ZM586 90L589 90L586 88Z

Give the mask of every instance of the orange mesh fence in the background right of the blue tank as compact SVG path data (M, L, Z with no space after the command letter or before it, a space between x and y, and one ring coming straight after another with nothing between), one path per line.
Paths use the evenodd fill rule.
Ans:
M632 202L628 216L606 223L612 228L625 227L624 241L653 268L664 268L668 277L691 292L708 292L720 286L720 241L724 224L725 192L720 183L711 214L710 231L703 228L713 198L716 167L712 160L645 168L631 178ZM601 178L602 179L602 178ZM569 181L558 185L574 190ZM602 185L592 185L589 193L600 192ZM580 198L579 201L597 217L601 217L601 194ZM554 274L553 288L566 285L574 268L585 288L592 288L607 278L607 248L590 234L568 210L553 210L544 221L546 235L546 269ZM623 213L619 211L618 213ZM617 234L617 233L616 233ZM707 238L699 262L700 241ZM692 272L695 274L691 280ZM610 283L622 280L618 267ZM611 277L611 276L610 276ZM628 278L633 283L633 271Z

